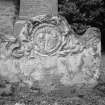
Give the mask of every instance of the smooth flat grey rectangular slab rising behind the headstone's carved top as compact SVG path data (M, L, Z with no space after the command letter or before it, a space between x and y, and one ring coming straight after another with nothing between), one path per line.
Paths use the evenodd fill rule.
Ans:
M57 15L57 0L20 0L20 17Z

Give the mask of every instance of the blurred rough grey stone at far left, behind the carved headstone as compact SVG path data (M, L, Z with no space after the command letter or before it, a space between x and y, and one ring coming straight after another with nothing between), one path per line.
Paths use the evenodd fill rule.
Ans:
M0 0L0 37L13 35L14 14L13 2Z

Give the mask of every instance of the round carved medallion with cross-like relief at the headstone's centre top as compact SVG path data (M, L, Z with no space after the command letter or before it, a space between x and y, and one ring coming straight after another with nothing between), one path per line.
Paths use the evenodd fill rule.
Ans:
M34 48L41 54L53 54L61 45L60 32L53 25L41 25L33 34Z

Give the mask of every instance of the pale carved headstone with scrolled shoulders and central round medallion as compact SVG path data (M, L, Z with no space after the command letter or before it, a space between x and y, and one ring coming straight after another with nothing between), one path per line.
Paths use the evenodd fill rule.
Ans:
M61 16L33 17L16 40L1 43L0 59L0 74L11 82L38 81L44 91L93 87L100 76L100 31L90 27L78 36Z

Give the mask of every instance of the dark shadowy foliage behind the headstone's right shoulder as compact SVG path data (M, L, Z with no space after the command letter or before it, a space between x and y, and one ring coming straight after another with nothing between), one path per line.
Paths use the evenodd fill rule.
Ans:
M58 0L59 14L66 17L76 33L82 35L88 26L101 30L102 52L105 52L104 0Z

